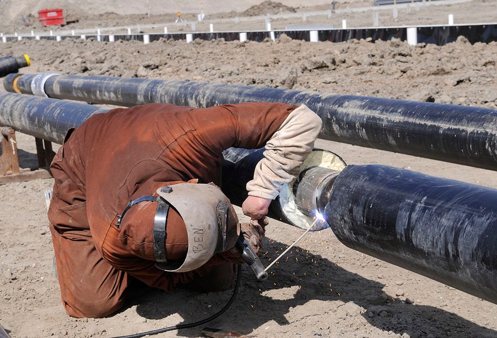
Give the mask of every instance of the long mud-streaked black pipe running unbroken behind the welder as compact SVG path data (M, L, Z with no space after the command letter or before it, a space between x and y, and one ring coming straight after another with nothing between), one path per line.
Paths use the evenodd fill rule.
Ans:
M14 78L4 80L9 91L43 86L37 91L49 97L121 106L306 104L323 119L321 138L497 170L495 109L189 81L55 74L32 87L34 75L17 77L16 86Z

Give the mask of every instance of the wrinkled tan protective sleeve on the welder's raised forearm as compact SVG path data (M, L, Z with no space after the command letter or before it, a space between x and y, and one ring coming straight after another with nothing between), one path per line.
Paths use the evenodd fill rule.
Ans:
M248 195L274 200L281 185L298 175L322 125L321 118L305 105L292 111L267 141L264 158L257 163L253 180L247 183Z

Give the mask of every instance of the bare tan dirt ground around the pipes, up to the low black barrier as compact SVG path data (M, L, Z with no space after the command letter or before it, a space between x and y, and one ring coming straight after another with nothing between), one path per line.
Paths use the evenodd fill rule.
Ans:
M25 71L106 74L250 84L497 107L497 44L459 39L443 47L369 43L21 41L0 56L29 53ZM34 140L18 134L21 165ZM385 164L497 188L494 171L325 140L349 164ZM0 324L12 337L113 337L188 323L215 313L231 291L171 294L139 288L104 319L74 319L60 302L43 192L52 180L0 186ZM239 212L239 214L241 214ZM333 225L331 224L331 227ZM301 230L273 221L267 265ZM226 314L208 324L254 337L497 337L497 305L340 244L331 229L305 238L256 282L244 268ZM200 337L198 328L159 337Z

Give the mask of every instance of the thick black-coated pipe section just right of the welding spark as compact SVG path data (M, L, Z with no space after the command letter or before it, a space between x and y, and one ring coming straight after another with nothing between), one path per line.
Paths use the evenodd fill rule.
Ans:
M497 190L349 165L324 209L349 248L497 303Z

